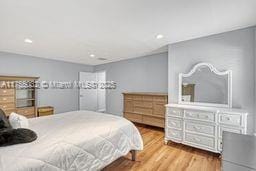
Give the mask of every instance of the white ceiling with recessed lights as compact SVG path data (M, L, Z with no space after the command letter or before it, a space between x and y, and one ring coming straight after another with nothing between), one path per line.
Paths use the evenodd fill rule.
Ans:
M97 65L255 24L256 0L0 0L0 51Z

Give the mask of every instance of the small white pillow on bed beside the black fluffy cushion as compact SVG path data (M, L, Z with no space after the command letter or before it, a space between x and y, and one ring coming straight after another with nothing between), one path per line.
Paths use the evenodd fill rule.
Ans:
M28 128L28 119L25 116L12 112L9 115L9 122L13 129Z

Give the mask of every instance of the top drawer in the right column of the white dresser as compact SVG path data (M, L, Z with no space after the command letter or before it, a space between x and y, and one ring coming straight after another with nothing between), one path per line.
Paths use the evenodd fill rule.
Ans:
M242 126L242 116L220 113L219 122L228 125Z

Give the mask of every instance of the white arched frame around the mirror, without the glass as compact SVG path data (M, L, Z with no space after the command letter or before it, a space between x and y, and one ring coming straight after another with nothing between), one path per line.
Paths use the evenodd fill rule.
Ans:
M204 102L184 102L182 101L182 78L183 77L190 77L194 74L199 67L208 67L211 72L214 72L216 75L227 75L228 76L228 104L218 104L218 103L204 103ZM180 73L179 74L179 104L186 104L186 105L199 105L199 106L212 106L212 107L228 107L232 108L232 70L226 71L219 71L217 70L212 64L210 63L198 63L196 64L191 71L188 73Z

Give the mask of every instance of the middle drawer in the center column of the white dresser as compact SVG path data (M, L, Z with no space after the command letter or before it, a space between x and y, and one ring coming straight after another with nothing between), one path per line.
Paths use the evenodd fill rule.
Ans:
M185 130L212 136L215 135L215 126L213 125L202 125L198 123L185 122Z

